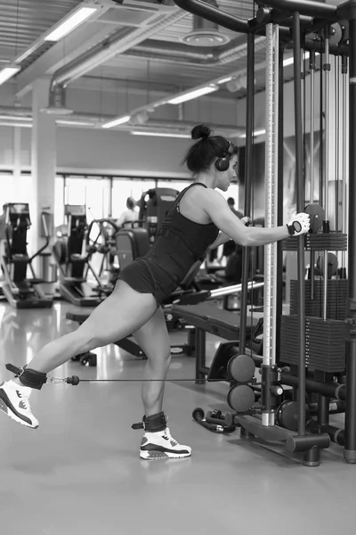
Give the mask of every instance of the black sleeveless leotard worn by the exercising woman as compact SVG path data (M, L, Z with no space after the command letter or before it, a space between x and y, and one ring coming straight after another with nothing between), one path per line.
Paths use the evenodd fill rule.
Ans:
M137 292L152 293L158 305L174 292L219 234L214 223L196 223L180 213L182 196L194 185L206 187L196 182L182 190L166 213L150 251L126 266L118 276Z

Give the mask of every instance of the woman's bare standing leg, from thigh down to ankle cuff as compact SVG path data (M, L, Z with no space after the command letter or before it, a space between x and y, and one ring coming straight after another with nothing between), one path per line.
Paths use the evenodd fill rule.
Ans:
M134 333L134 338L148 358L144 378L162 380L142 383L145 416L151 416L162 411L166 374L171 363L171 346L162 309L157 309L150 321Z

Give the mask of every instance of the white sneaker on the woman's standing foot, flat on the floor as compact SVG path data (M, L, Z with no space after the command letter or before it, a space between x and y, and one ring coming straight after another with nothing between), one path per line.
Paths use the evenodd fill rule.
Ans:
M164 431L145 432L140 449L142 459L157 460L166 458L190 457L191 448L179 444L171 435L169 427Z

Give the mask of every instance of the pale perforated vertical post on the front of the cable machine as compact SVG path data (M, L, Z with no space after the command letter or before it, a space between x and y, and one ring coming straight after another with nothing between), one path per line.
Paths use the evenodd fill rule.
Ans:
M265 226L277 226L278 202L279 27L266 26ZM264 247L263 366L276 364L277 243ZM274 425L274 412L263 410L263 425Z

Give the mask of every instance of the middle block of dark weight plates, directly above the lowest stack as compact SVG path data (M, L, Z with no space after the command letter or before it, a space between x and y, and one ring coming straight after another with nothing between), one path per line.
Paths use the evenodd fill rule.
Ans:
M323 317L324 281L314 280L313 299L312 281L305 281L305 316ZM346 301L349 292L347 279L328 280L327 317L344 321ZM298 281L290 281L290 314L299 314Z

